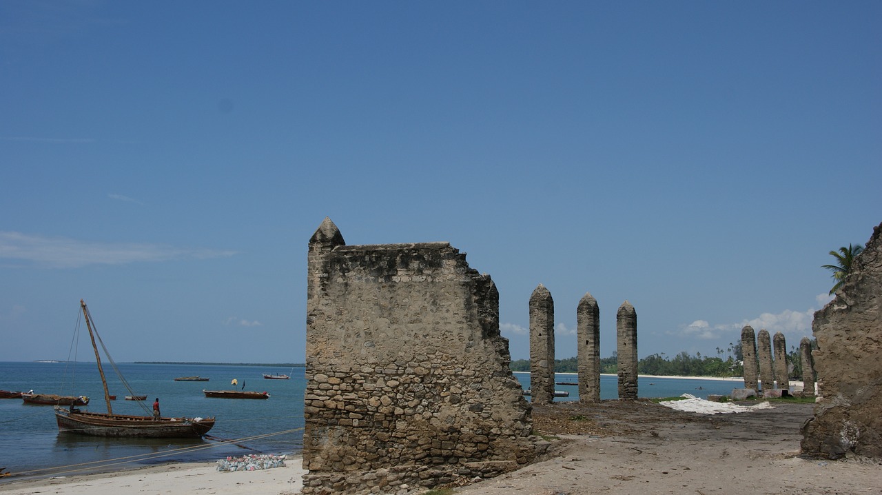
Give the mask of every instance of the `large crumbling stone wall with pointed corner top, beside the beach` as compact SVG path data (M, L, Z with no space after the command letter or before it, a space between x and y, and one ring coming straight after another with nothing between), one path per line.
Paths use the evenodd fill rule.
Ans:
M490 276L447 243L310 239L303 493L410 492L536 454Z

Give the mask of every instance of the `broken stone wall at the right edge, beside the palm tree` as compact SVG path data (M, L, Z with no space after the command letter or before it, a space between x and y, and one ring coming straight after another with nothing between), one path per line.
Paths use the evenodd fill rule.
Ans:
M820 397L803 427L803 454L882 460L882 224L811 329Z

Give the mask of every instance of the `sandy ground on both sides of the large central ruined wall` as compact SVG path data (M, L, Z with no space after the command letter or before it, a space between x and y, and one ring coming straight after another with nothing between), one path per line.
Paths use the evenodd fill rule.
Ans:
M551 442L549 454L524 469L453 487L454 493L882 492L882 464L878 462L798 456L799 427L811 417L811 404L777 402L772 406L710 416L649 401L534 406L534 427ZM244 472L218 472L214 464L172 464L101 475L9 480L0 482L0 491L10 495L290 495L300 491L302 475L296 458L288 459L285 468Z

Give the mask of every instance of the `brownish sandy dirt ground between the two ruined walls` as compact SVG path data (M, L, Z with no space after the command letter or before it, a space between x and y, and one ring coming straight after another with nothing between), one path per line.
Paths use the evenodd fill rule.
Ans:
M703 416L647 401L534 406L551 454L457 494L882 493L882 465L799 457L811 404Z

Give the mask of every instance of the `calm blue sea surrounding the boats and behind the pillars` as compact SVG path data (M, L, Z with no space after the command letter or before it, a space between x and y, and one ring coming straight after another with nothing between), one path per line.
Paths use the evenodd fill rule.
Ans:
M211 439L101 439L60 433L50 406L25 405L20 399L0 400L0 467L15 474L39 476L118 470L168 461L216 461L228 455L298 454L303 446L303 368L206 364L118 364L136 394L146 394L150 407L159 397L163 416L215 416ZM112 368L105 364L115 413L145 415L138 403L125 401L129 392ZM291 376L287 380L263 379L262 373ZM207 382L174 381L184 376L207 377ZM529 373L515 373L529 387ZM266 391L265 401L209 399L203 389ZM558 374L557 381L576 377ZM699 397L731 393L743 382L703 379L639 379L641 397L669 397L684 393ZM579 399L578 386L557 386L570 393L557 401ZM104 393L94 363L0 363L0 389L35 393L86 395L89 406L105 411ZM617 378L602 376L601 397L617 398ZM235 440L233 443L218 439ZM15 477L4 478L4 480ZM0 481L0 484L3 484Z

